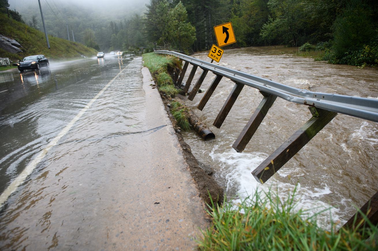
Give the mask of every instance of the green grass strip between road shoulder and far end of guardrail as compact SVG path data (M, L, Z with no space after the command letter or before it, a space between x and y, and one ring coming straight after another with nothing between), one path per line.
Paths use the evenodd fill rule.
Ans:
M175 88L167 70L168 67L173 68L181 64L178 58L150 52L143 54L143 60L143 65L150 70L159 90L166 95L175 96L178 93L178 89Z

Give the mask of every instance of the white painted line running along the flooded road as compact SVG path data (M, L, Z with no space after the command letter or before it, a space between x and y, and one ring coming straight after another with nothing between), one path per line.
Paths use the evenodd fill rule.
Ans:
M89 101L89 103L79 112L77 115L71 120L70 123L64 129L53 139L50 141L50 143L42 150L40 151L37 156L33 159L33 161L29 162L29 164L26 166L26 168L22 171L22 173L17 176L17 178L12 181L12 183L5 189L5 191L0 196L0 209L3 207L4 202L8 199L9 195L11 195L19 185L21 185L26 177L28 177L29 174L37 167L39 162L42 161L43 157L46 156L47 152L51 149L51 147L55 146L59 139L61 139L68 131L71 129L71 127L75 124L76 121L78 121L81 116L89 109L89 107L98 99L99 96L102 95L102 93L105 92L105 90L110 86L110 84L113 83L113 81L125 70L121 70L112 80L110 80L109 83L106 84L102 90L97 93L97 95Z

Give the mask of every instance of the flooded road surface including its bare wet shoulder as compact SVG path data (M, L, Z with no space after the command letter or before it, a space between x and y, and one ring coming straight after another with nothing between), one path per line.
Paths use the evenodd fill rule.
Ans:
M0 250L195 245L204 210L141 69L105 56L0 75Z

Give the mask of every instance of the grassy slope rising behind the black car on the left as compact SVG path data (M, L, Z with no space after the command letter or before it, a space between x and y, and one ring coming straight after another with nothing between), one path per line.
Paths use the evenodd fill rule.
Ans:
M49 36L50 47L47 48L45 34L31 28L24 23L8 18L6 14L0 14L0 34L12 38L22 46L22 52L13 54L0 49L0 57L18 61L29 55L42 54L48 59L64 60L68 58L93 57L97 51L84 46L81 43L71 42L62 38Z

